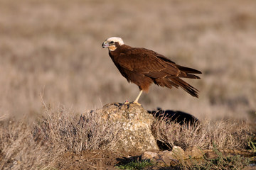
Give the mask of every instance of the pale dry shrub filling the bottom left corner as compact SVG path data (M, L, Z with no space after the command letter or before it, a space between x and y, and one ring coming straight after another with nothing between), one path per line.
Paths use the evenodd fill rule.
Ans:
M0 123L0 169L46 169L58 161L61 149L38 145L31 130L18 120Z

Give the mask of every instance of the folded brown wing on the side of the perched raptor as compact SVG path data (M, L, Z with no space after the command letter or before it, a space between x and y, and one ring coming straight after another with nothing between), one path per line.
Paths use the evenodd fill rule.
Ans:
M124 50L119 55L117 62L124 69L144 74L154 79L167 76L177 77L181 74L174 62L157 52L145 48Z

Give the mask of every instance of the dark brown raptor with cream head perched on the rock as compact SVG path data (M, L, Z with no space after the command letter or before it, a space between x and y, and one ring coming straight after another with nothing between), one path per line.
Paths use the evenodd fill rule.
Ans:
M201 74L200 71L180 66L152 50L125 45L122 38L108 38L102 47L109 49L109 55L122 76L139 86L139 95L134 103L138 103L142 91L149 91L152 83L169 89L181 86L191 96L198 97L199 91L181 78L200 79L194 75Z

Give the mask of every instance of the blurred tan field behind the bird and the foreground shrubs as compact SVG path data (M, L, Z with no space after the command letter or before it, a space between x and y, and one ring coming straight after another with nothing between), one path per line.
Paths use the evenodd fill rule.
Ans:
M0 1L0 114L40 113L43 101L82 112L134 101L102 42L121 37L201 70L200 91L151 86L139 102L198 118L256 111L256 1Z

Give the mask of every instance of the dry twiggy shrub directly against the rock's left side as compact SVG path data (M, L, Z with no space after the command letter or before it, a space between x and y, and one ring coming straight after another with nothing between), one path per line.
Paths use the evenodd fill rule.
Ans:
M78 115L65 108L58 111L46 109L35 127L34 135L45 145L57 145L75 153L88 149L114 151L119 133L119 125L103 121L95 112Z

